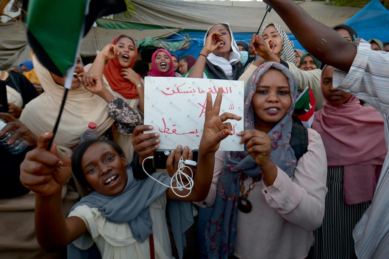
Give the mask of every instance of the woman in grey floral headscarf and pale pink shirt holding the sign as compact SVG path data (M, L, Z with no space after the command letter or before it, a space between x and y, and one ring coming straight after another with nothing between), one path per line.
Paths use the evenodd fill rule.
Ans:
M209 258L305 258L324 216L326 152L320 135L292 124L297 83L269 62L245 88L244 151L217 151L204 203ZM204 204L203 203L203 204ZM261 233L258 235L258 233Z

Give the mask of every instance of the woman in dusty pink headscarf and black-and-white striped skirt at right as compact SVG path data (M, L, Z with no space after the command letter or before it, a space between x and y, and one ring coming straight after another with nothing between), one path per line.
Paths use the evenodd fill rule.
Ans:
M352 230L373 199L387 153L382 115L332 87L334 68L321 74L323 108L312 128L326 148L326 211L317 229L312 258L357 258ZM372 137L373 136L373 137Z

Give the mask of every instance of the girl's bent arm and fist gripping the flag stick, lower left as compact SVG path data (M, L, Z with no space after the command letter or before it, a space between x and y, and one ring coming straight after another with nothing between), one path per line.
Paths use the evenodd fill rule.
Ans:
M35 192L35 232L39 245L48 252L65 248L86 232L79 217L65 219L62 210L62 186L70 177L68 156L58 156L56 145L47 151L52 132L39 136L38 147L26 154L20 165L20 181Z

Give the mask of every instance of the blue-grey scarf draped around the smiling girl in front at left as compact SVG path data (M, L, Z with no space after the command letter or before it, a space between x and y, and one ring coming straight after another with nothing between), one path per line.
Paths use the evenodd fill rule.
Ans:
M81 205L98 208L109 222L128 223L134 238L143 243L152 234L149 205L163 195L168 187L157 183L150 177L143 180L135 179L130 166L126 170L127 185L119 195L104 196L93 191L77 202L70 211ZM170 185L171 177L165 173L154 173L151 176L161 183ZM191 203L170 200L168 212L177 251L179 257L182 258L182 250L186 246L184 232L194 222ZM89 235L89 233L84 235ZM85 252L75 249L73 244L68 245L69 259L84 258L80 255L81 253Z

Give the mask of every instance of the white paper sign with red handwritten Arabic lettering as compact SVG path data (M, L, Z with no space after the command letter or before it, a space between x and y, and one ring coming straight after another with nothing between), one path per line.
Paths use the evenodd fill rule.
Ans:
M149 132L158 132L159 149L175 149L177 145L198 148L202 137L207 92L214 103L219 87L223 89L220 115L229 112L242 120L227 120L233 126L233 135L221 141L220 150L243 151L244 82L183 77L145 77L144 124L152 125Z

